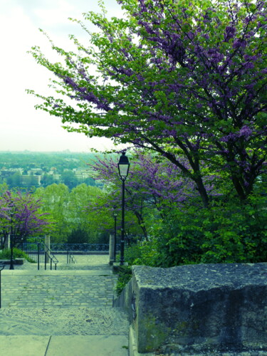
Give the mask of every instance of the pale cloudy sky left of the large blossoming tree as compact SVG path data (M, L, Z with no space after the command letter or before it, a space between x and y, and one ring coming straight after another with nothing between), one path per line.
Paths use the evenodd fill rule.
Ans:
M122 16L115 0L104 1L108 16ZM53 95L48 89L53 74L27 53L32 46L40 46L48 58L54 56L38 28L46 31L56 45L70 51L73 45L69 34L75 34L83 43L88 41L88 34L68 18L82 20L88 11L100 11L98 0L0 0L0 151L89 152L90 148L112 148L108 139L67 132L60 118L36 110L37 98L25 91ZM85 23L90 28L90 23Z

